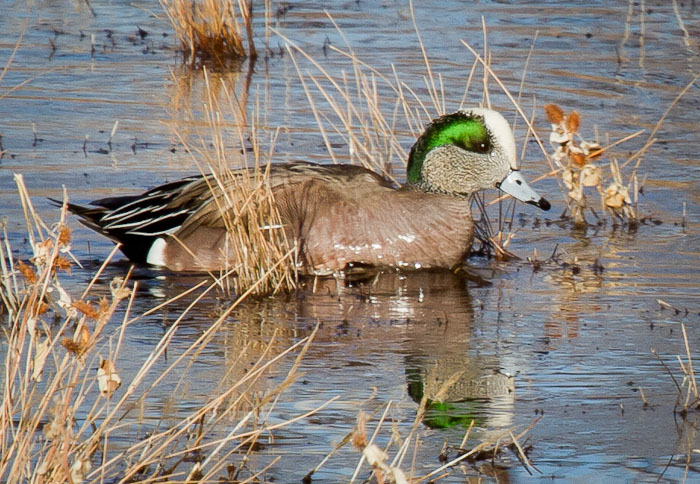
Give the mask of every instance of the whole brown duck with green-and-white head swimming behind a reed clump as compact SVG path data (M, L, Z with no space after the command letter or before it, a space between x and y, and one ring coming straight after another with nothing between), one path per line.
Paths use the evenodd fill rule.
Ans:
M234 174L247 176L242 170ZM176 272L226 270L227 229L213 176L67 207L85 226L120 244L134 263ZM517 168L510 125L486 108L431 121L410 150L404 184L357 165L305 161L271 163L266 183L287 240L296 246L299 269L317 275L353 264L463 265L474 238L470 196L480 190L499 189L550 208Z

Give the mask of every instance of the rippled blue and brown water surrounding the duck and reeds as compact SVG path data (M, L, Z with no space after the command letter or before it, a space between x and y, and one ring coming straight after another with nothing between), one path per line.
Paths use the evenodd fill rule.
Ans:
M483 16L492 65L513 92L518 91L537 33L523 90L526 111L534 102L540 107L556 102L576 109L583 118L582 131L593 137L597 129L602 140L646 129L640 138L615 148L613 154L621 160L641 148L700 71L700 11L694 2L678 2L675 10L676 2L666 1L598 2L585 9L575 2L440 2L439 7L438 2L419 3L417 23L434 73L442 76L448 110L459 106L473 62L460 39L482 52ZM73 200L84 202L196 171L172 128L185 132L195 128L182 113L201 108L203 82L201 75L188 74L182 67L172 50L169 26L150 15L160 12L158 3L93 0L90 4L94 14L86 2L27 6L8 1L0 16L3 64L24 33L0 84L4 94L0 133L6 150L0 160L0 213L8 220L19 256L26 255L28 247L13 173L24 174L38 211L55 220L56 211L45 197L60 198L63 186ZM406 85L427 99L425 67L406 4L289 6L271 24L332 75L340 77L352 65L344 56L324 51L324 44L345 45L324 8L361 59L387 75L393 64ZM262 20L256 28L262 44ZM258 60L250 77L250 102L260 103L266 129L281 128L277 160L328 159L283 45L284 40L271 35L266 58ZM303 59L301 68L317 73ZM240 89L245 73L244 66L240 73L219 77ZM8 91L25 81L29 82ZM177 416L216 393L225 384L227 369L242 348L251 348L250 343L260 347L276 331L278 347L283 349L320 323L302 364L303 381L284 394L271 419L290 418L334 396L339 399L313 418L279 432L254 455L252 467L282 457L282 464L266 474L268 479L298 482L351 430L360 411L381 410L390 400L397 405L392 418L405 436L416 400L430 395L457 371L464 373L445 397L446 407L433 409L419 429L416 476L440 465L444 442L458 445L472 419L473 436L485 439L542 416L529 441L535 478L700 479L698 458L692 452L700 445L697 415L674 415L674 383L651 353L654 348L680 374L675 360L685 352L680 323L688 328L696 358L700 349L698 88L696 83L668 112L654 134L657 143L640 165L644 182L639 207L644 222L637 230L610 221L575 230L558 220L564 202L557 183L542 181L535 186L553 201L553 210L543 214L518 207L518 232L511 249L526 257L536 248L545 259L556 247L559 263L533 271L524 261L500 264L477 257L469 261L470 267L488 285L449 273L380 274L353 284L322 281L315 294L302 291L249 301L195 362L186 395L152 395L138 417L139 425L148 427L149 421L155 425L163 417ZM497 86L491 84L490 91L493 104L512 115ZM472 87L468 100L478 102L480 93L480 88ZM321 102L318 95L314 99ZM522 142L523 123L519 126L516 134ZM541 108L536 126L546 137ZM341 141L334 138L333 146L340 158L347 158ZM408 136L405 144L408 149ZM398 160L392 161L400 166ZM531 142L523 170L529 178L547 171ZM74 270L71 280L80 288L110 244L77 223L73 227L75 254L85 267ZM128 264L118 262L107 276L127 270ZM193 283L187 277L147 269L139 269L137 278L142 291L135 312ZM681 311L661 310L657 299ZM176 335L171 353L187 347L221 307L214 299L198 305ZM143 361L178 309L138 323L129 336L129 358L121 368L124 376L135 371L129 361ZM141 438L143 431L135 427L131 436L124 437L124 445L131 437ZM386 431L381 442L388 435ZM356 452L343 448L314 479L346 481L357 461ZM486 464L467 466L449 479L461 482L464 473L500 482L529 478L509 454L495 468ZM366 475L365 469L361 476Z

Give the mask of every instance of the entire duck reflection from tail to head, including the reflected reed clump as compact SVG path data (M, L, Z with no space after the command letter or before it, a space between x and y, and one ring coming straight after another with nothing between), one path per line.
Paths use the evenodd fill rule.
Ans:
M180 294L200 279L168 274L143 277L140 284L143 293L162 299ZM352 280L307 279L294 294L241 304L217 336L214 353L225 360L221 363L226 374L239 378L233 367L245 372L250 362L267 351L273 336L273 353L283 351L318 323L315 349L306 358L316 360L310 361L314 367L333 366L338 392L352 394L366 386L367 382L343 372L351 366L371 366L387 380L387 387L396 387L398 382L388 380L403 375L404 388L416 404L427 398L423 418L427 426L468 426L474 420L478 428L497 430L512 423L515 382L500 371L497 351L484 354L472 344L469 284L449 271L380 271ZM174 320L193 299L188 296L170 304L165 311L171 316L161 320ZM151 298L150 303L157 301ZM213 295L202 299L179 323L183 337L206 329L229 304Z

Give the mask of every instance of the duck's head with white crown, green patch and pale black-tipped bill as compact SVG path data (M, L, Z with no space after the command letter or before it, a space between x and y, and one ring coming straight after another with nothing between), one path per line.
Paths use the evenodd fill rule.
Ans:
M408 184L459 196L500 188L542 210L550 208L517 169L508 122L490 109L462 110L433 120L411 148Z

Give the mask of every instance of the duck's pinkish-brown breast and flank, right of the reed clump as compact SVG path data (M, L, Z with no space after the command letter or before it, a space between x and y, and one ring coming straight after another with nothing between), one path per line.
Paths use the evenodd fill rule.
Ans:
M451 268L471 246L468 200L366 183L312 182L295 193L282 215L311 272L349 263Z

